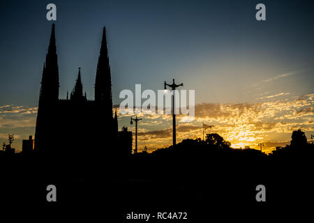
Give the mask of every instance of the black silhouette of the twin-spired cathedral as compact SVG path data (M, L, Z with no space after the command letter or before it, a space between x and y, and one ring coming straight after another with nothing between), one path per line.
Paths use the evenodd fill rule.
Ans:
M117 148L118 121L117 112L115 116L112 112L112 82L105 27L96 70L95 100L88 100L86 92L83 93L81 68L70 98L68 94L66 98L59 98L54 29L52 24L40 83L34 149L40 153L70 156L126 153L119 151L124 148Z

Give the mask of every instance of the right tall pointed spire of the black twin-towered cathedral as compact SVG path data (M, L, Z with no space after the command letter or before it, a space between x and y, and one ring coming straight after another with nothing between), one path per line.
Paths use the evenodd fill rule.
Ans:
M111 72L105 27L103 27L103 40L96 71L95 100L105 107L105 114L110 114L112 117Z

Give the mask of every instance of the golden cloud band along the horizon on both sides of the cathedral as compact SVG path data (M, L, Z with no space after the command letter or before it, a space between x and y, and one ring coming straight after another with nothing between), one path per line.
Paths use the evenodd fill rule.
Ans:
M183 139L203 138L202 123L214 125L204 132L204 136L217 133L232 148L260 149L259 143L264 143L262 151L269 153L276 146L290 144L294 130L303 130L308 139L314 134L313 123L314 93L290 98L290 100L275 100L255 104L218 104L202 103L195 105L195 118L186 122L184 115L177 116L177 142ZM135 127L129 125L130 115L119 114L119 129L127 126L133 132L135 145ZM8 133L16 135L15 148L20 151L22 139L32 134L36 125L37 107L15 105L0 106L1 141L6 141ZM147 146L151 152L158 148L172 145L172 115L139 114L143 118L138 125L139 151ZM12 132L12 130L15 132ZM7 133L8 132L8 133Z

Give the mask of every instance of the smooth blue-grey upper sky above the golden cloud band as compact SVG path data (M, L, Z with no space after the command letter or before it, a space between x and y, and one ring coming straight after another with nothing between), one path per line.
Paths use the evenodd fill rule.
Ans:
M313 93L311 1L1 1L0 105L37 106L51 29L47 3L57 5L61 98L78 67L94 98L104 25L114 104L122 89L162 89L172 78L195 89L196 102ZM257 3L266 5L265 22L255 20Z

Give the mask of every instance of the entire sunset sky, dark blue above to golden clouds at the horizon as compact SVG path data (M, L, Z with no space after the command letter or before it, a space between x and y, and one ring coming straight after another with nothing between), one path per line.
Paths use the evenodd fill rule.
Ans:
M255 20L264 3L267 20ZM82 68L94 99L103 26L119 92L163 89L163 82L195 90L195 120L177 118L177 141L202 137L202 123L234 148L264 142L269 152L290 144L293 130L314 134L314 29L312 1L1 1L0 144L14 147L35 133L40 78L50 38L48 3L57 5L60 98ZM142 100L143 102L144 100ZM130 116L119 115L119 129ZM172 116L141 115L139 148L172 144ZM133 141L133 144L134 141Z

